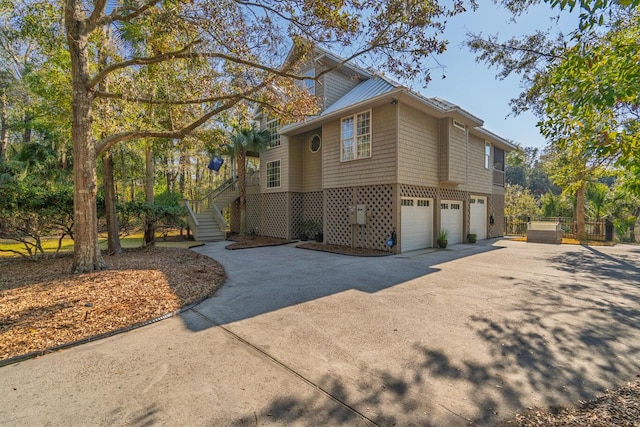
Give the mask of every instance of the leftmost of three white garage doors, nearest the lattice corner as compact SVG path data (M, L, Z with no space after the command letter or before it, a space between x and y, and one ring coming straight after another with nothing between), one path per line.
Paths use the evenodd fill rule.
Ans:
M402 252L433 246L433 200L402 199Z

